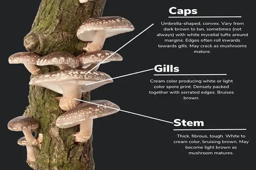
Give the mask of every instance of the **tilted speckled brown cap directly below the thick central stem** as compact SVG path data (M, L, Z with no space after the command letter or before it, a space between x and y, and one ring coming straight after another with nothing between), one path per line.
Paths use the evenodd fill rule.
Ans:
M69 111L59 116L56 120L56 126L58 126L59 128L71 128L79 125L85 119L96 119L103 116L112 115L114 113L117 113L120 109L119 106L108 100L94 100L90 102L95 104L85 102L80 103L76 107L71 108ZM100 104L103 106L99 106L96 104Z

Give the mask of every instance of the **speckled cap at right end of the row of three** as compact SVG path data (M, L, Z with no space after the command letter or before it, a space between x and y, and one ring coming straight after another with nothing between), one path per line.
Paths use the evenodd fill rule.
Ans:
M92 52L86 52L78 55L77 59L80 61L81 65L90 64L90 63L100 63L113 53L114 52L112 51L106 51L106 50L92 51ZM111 57L109 57L103 63L108 63L112 61L122 61L122 60L123 60L123 57L120 54L114 53L113 55L111 55Z

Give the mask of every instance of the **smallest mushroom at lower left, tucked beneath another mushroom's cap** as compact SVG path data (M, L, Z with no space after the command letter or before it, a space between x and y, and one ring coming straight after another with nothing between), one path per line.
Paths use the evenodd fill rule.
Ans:
M18 145L20 146L26 146L27 148L27 160L31 162L35 162L35 154L36 150L35 148L26 140L25 136L20 138L17 141Z

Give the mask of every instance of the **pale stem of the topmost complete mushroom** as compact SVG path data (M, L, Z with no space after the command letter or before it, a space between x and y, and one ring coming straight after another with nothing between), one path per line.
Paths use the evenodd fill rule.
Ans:
M94 36L93 42L88 43L87 46L84 48L84 50L86 50L87 52L101 50L104 45L106 36L107 36L107 31L104 31L104 30L97 31Z

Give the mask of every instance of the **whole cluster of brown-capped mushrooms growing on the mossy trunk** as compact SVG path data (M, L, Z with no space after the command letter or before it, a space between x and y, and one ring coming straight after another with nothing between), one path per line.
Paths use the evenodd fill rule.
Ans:
M80 0L85 3L90 0ZM123 17L96 17L87 19L77 30L77 38L86 41L84 53L74 56L65 51L57 51L41 56L32 52L18 52L9 57L10 64L24 64L33 74L29 85L41 86L61 94L55 97L65 113L55 124L60 129L79 125L80 130L73 134L75 142L86 142L93 131L93 119L108 116L119 111L119 106L108 100L95 100L80 103L82 93L89 92L105 84L112 83L110 75L97 71L99 66L112 61L122 61L123 57L115 52L102 50L105 39L117 34L133 31L130 21ZM42 66L57 66L59 70L41 73ZM78 99L78 100L77 100ZM24 137L17 143L27 148L27 160L34 162L38 149L41 149L43 134L40 120L28 116L18 116L8 123L11 131L22 131Z

